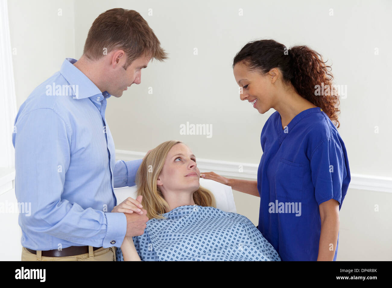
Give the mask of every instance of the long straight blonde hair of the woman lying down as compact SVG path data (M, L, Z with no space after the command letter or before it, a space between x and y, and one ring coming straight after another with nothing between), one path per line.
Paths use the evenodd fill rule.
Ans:
M178 143L182 142L169 140L152 149L142 161L136 173L136 185L138 187L136 192L138 196L143 196L142 205L147 210L149 219L165 219L161 214L170 209L156 182L163 169L167 154ZM201 186L193 193L193 200L196 205L216 208L215 197L212 192Z

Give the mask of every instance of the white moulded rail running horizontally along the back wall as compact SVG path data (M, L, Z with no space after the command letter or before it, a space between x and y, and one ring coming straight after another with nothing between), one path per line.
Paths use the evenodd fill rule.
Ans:
M136 160L144 157L144 152L116 150L116 160ZM258 164L197 159L200 172L215 172L229 178L257 180ZM242 165L242 172L240 168ZM351 173L350 189L392 193L392 178Z

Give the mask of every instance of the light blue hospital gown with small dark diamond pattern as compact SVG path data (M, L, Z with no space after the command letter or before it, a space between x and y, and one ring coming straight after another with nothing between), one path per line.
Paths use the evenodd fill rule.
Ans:
M274 247L245 216L184 205L150 219L132 237L143 261L280 261ZM124 261L117 248L116 260Z

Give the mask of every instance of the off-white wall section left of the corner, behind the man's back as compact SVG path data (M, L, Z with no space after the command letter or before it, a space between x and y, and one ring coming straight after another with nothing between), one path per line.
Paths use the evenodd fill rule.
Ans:
M75 57L74 2L8 0L8 13L19 109L66 57Z

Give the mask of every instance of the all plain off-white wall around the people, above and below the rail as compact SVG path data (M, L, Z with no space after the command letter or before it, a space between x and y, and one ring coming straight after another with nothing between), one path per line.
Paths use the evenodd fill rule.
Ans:
M134 9L170 59L149 63L140 85L109 99L106 119L116 149L147 152L178 139L198 158L258 164L261 129L274 110L262 115L240 101L231 65L248 41L272 38L287 47L309 45L329 59L335 83L347 85L338 130L352 175L392 176L389 1L9 2L11 43L18 48L13 58L18 107L65 57L81 56L98 14L114 7ZM58 8L63 8L61 17ZM153 16L147 15L149 8ZM331 8L334 16L328 16ZM212 124L212 138L180 135L180 124L187 121ZM238 213L257 225L260 198L234 191L234 200ZM338 260L392 260L391 206L391 193L349 188L340 211Z

